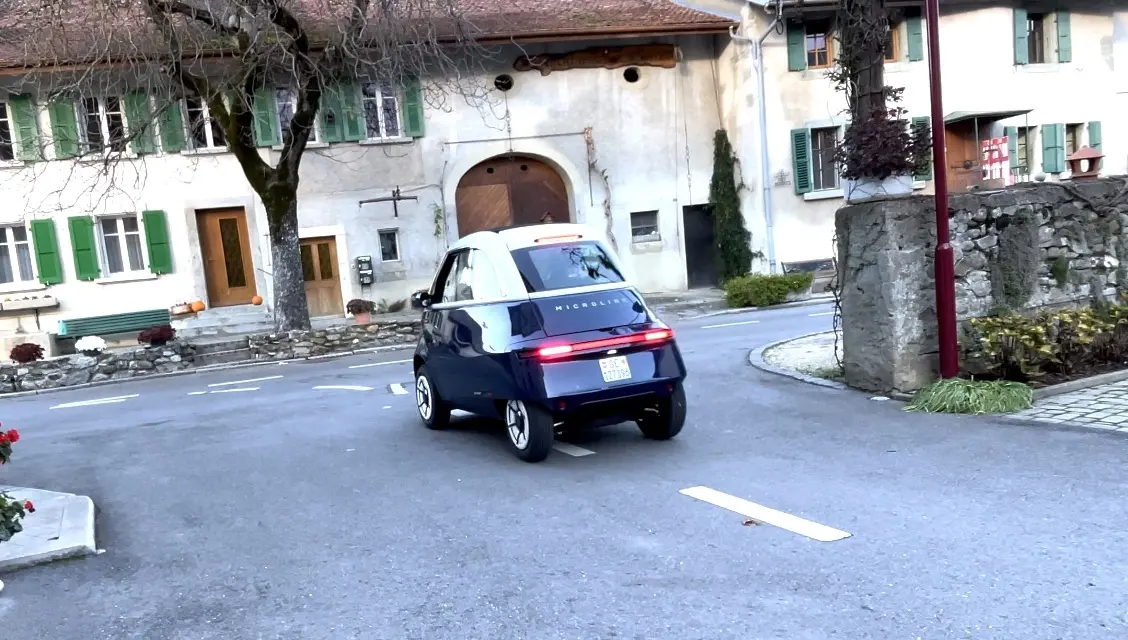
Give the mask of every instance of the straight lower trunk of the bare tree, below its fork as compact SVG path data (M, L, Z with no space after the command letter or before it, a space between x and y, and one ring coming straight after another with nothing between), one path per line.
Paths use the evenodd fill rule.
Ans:
M298 242L298 194L274 195L266 205L274 272L274 328L308 330L309 305Z

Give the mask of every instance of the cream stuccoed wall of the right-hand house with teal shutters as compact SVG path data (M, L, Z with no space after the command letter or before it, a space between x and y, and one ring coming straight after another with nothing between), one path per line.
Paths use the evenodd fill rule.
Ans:
M767 28L763 12L746 8L744 16L742 35L756 37ZM1012 34L1008 7L945 11L941 16L944 113L1033 109L1026 116L1001 121L993 135L1002 135L1006 125L1101 121L1104 175L1128 173L1128 124L1120 117L1128 108L1128 11L1073 12L1073 62L1066 64L1016 67ZM904 32L900 37L905 37ZM719 61L723 122L738 148L749 187L743 199L754 246L766 253L758 96L750 45L726 36L719 40L723 49ZM773 186L777 260L828 258L832 255L834 212L845 202L840 196L819 200L817 194L804 199L794 193L790 132L845 122L845 99L834 90L825 70L787 71L784 35L768 36L764 49L770 169L774 178L783 172L786 182ZM885 70L887 84L906 88L908 115L929 115L927 52L919 62L891 63ZM1037 141L1034 163L1040 167L1041 144ZM928 183L923 192L931 190ZM767 269L766 263L760 266Z

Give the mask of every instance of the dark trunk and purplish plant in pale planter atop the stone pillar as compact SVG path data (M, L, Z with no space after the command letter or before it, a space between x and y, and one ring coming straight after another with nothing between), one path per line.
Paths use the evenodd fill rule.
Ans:
M910 125L905 89L885 86L889 9L884 0L843 0L836 24L839 52L828 76L851 116L835 156L846 199L910 193L914 176L931 177L932 130L927 117Z

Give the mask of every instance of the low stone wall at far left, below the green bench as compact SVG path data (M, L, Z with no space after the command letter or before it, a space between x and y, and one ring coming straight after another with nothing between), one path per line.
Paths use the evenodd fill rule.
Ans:
M195 348L182 342L164 347L138 347L99 356L63 356L28 362L0 365L0 393L39 391L168 374L192 366Z

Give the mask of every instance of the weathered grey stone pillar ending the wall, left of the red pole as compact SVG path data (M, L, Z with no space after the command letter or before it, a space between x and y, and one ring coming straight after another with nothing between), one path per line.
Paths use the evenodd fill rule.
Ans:
M839 209L846 384L910 393L936 376L932 196L874 199Z

